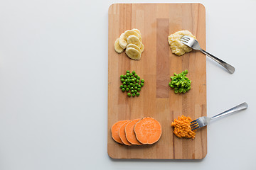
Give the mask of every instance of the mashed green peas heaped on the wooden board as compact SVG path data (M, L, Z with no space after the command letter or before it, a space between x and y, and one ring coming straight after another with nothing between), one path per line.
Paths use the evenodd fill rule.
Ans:
M185 70L180 74L174 73L174 77L171 77L171 82L169 82L169 86L171 88L174 88L175 94L185 94L191 89L191 80L186 77L186 74L188 74L188 70Z

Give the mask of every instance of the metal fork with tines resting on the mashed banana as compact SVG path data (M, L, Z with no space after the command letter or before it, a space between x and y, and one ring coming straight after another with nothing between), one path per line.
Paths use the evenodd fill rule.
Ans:
M211 55L210 53L206 52L205 50L203 50L200 45L199 42L187 35L184 35L181 38L181 42L184 45L188 45L188 47L193 48L193 50L200 50L201 52L203 52L203 54L207 55L208 57L210 57L212 60L214 60L215 62L218 62L218 64L222 65L225 69L228 70L228 72L230 72L231 74L233 72L235 72L235 67L233 67L232 65L224 62L223 60L220 60L219 58L215 57L214 55Z

